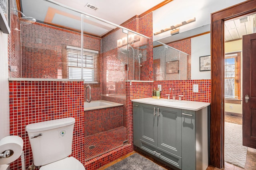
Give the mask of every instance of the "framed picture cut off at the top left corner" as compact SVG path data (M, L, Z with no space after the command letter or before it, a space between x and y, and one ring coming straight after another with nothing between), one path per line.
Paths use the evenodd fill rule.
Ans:
M0 0L0 29L3 33L10 34L8 0Z

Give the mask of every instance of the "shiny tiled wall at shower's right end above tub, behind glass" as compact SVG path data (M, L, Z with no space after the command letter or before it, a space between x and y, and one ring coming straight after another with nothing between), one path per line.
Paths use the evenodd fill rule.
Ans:
M127 33L118 29L102 38L102 92L105 96L126 98L129 54Z

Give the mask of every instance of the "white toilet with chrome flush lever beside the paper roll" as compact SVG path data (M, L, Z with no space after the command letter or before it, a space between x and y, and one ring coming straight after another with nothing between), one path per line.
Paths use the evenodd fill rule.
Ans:
M40 170L85 170L72 153L75 119L68 117L26 126L35 166Z

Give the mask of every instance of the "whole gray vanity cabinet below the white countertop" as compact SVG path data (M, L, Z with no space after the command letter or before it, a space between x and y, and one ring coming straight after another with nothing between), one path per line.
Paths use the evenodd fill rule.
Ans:
M207 107L197 111L133 102L134 145L182 170L208 166Z

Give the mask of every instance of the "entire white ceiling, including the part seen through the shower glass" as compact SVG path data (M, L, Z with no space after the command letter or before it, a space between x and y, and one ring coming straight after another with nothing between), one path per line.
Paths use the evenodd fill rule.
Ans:
M55 0L55 2L72 9L96 16L103 20L120 25L135 15L140 15L164 0ZM59 25L67 29L81 29L81 15L47 0L20 0L22 12L38 22ZM90 3L98 10L86 8ZM102 36L116 28L95 18L84 17L84 31Z

